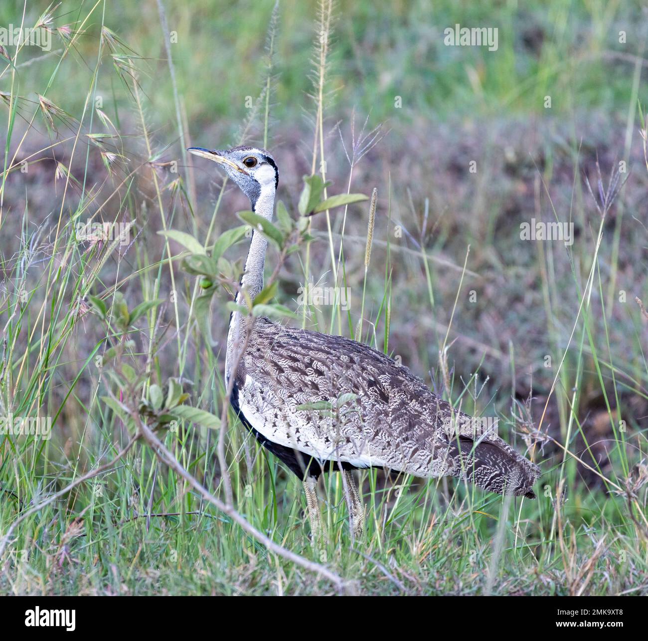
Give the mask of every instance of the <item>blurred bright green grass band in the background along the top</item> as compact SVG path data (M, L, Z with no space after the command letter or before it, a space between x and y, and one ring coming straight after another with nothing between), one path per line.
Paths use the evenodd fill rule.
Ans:
M55 24L83 18L94 3L58 6ZM272 1L169 3L168 29L176 31L172 54L178 91L185 97L192 128L226 121L230 128L246 116L246 95L259 93ZM27 3L25 25L36 23L49 3ZM533 2L424 0L336 3L334 46L330 55L331 115L355 107L371 111L376 122L396 119L403 127L418 118L567 117L574 112L604 112L625 122L632 90L633 55L644 47L643 3L537 0ZM99 9L101 10L101 9ZM276 38L275 106L279 125L301 120L305 94L311 90L315 25L314 3L279 6ZM3 25L19 25L23 3L7 0L0 8ZM75 45L78 66L57 73L49 91L54 103L77 113L87 64L97 54L100 13L86 25ZM463 27L499 29L498 50L447 47L443 30ZM173 121L174 105L167 56L155 2L114 2L106 6L105 24L141 56L142 82L160 125ZM625 31L626 42L619 43ZM53 38L53 49L62 43ZM41 55L25 50L22 62ZM80 58L86 60L84 64ZM34 64L21 73L21 91L40 92L52 64ZM110 60L104 60L110 66ZM85 68L84 68L85 67ZM113 80L113 82L111 82ZM81 82L80 82L81 81ZM150 84L149 84L150 83ZM98 93L115 90L110 73L101 73ZM544 96L555 97L550 113ZM394 96L403 97L401 112ZM115 101L127 108L127 95ZM226 127L226 123L222 126ZM278 133L278 132L277 132ZM433 132L430 132L432 134ZM419 137L425 138L425 136Z

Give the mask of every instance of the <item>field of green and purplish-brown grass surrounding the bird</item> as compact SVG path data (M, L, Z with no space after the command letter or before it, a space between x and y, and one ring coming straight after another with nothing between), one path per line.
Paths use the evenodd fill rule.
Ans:
M168 3L175 88L155 3L65 4L48 24L74 26L54 34L53 54L8 47L0 415L51 417L52 438L0 436L3 593L340 590L264 536L361 594L648 592L648 317L634 302L648 300L640 3L428 4L340 2L322 49L326 3L323 18L282 3L273 38L270 4ZM25 24L46 7L29 3ZM19 24L22 10L3 3L0 23ZM498 26L498 53L445 47L456 22ZM355 139L367 113L364 134L383 124L350 166L334 125L350 150L353 111ZM322 160L329 196L378 190L369 231L369 204L352 204L312 217L290 256L270 250L274 302L299 314L288 322L360 336L456 407L500 417L501 435L542 467L537 500L364 471L366 531L352 541L341 478L329 476L328 542L311 546L301 483L227 409L226 287L244 241L201 287L187 252L157 234L187 232L209 253L248 208L180 140L266 139L295 224L301 176ZM597 208L597 158L604 191L618 161L629 165L608 208ZM520 241L531 216L571 220L579 236L570 248ZM83 241L88 219L128 226L130 243ZM310 278L348 285L351 309L298 308ZM132 322L147 301L157 304ZM143 441L79 482L126 446L144 401L157 426L154 390L170 379L187 404L226 418L220 431L179 420L157 432L216 502L230 479L226 509Z

